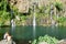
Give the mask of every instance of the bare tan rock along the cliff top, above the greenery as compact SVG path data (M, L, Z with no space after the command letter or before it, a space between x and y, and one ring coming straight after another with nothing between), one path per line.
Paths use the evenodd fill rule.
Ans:
M11 4L14 4L19 12L26 13L29 12L29 8L32 6L32 3L36 1L38 7L41 6L47 6L50 4L50 0L9 0ZM66 0L61 0L63 3L66 3ZM55 2L55 0L53 0Z

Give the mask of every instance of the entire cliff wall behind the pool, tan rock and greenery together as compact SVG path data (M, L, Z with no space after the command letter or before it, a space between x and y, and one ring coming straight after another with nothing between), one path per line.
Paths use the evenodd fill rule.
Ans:
M65 0L0 0L0 26L10 25L11 19L15 25L33 25L33 14L36 25L66 26L65 2Z

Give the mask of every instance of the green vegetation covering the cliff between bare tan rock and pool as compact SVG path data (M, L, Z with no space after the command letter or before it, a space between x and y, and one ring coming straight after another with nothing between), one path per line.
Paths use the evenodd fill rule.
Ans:
M51 6L53 6L52 19L55 24L66 25L66 10L61 1L50 2L50 4L38 7L35 4L35 12L33 7L30 8L29 13L20 13L15 6L11 6L7 0L0 1L0 26L10 25L11 10L16 25L32 25L33 14L36 15L37 25L51 25ZM16 16L20 19L18 20ZM42 18L41 18L42 16ZM57 18L58 16L58 18Z

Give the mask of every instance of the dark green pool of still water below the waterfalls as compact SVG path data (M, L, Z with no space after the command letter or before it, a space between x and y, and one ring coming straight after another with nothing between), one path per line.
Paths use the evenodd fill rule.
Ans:
M66 38L66 26L35 26L35 30L33 26L0 28L0 40L6 32L10 32L16 44L30 44L29 41L46 34L58 40Z

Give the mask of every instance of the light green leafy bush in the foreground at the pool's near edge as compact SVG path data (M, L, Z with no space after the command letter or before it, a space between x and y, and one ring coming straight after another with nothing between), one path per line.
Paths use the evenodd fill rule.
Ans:
M37 40L34 40L32 44L38 44L40 42L47 42L47 44L57 44L58 40L48 35L40 36Z

